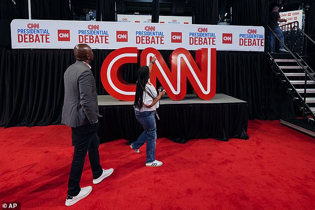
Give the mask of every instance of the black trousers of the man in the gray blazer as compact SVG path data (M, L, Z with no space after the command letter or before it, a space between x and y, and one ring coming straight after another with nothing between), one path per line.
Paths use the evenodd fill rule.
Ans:
M80 192L80 179L88 151L88 157L93 173L93 179L97 179L103 173L99 163L99 138L96 134L99 124L86 124L72 128L72 138L75 146L75 153L72 160L70 177L68 182L68 195L74 197Z

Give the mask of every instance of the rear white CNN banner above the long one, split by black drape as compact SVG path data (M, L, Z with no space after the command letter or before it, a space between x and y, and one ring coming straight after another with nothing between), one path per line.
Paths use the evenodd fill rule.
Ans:
M192 24L192 17L162 16L158 17L159 23ZM117 22L122 23L151 23L151 15L117 14Z

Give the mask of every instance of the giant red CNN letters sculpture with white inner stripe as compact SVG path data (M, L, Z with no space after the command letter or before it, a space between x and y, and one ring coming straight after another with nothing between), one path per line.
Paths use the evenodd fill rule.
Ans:
M210 100L216 94L216 49L202 48L196 51L196 61L184 48L178 48L170 56L168 69L162 56L155 48L146 48L141 54L141 66L149 66L152 57L157 61L151 72L151 83L157 79L172 100L182 100L186 95L186 80L192 84L196 94L203 100ZM104 60L101 80L106 91L116 99L134 101L136 84L122 78L122 66L138 62L138 49L126 47L115 50Z

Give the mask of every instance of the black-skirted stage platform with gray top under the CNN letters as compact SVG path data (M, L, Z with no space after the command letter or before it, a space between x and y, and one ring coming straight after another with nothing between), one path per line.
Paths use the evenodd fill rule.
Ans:
M119 101L109 95L98 96L100 118L98 136L101 142L116 139L135 141L143 132L135 117L133 102ZM225 94L216 94L210 101L186 95L181 101L167 96L157 110L157 136L174 142L189 139L248 139L247 102Z

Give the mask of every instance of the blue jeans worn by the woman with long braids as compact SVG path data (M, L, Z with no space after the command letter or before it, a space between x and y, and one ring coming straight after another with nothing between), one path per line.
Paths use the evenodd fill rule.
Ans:
M150 163L156 160L156 140L157 140L157 126L155 114L156 111L139 112L135 110L138 122L144 128L144 132L138 139L131 144L134 149L139 149L147 141L147 160Z

